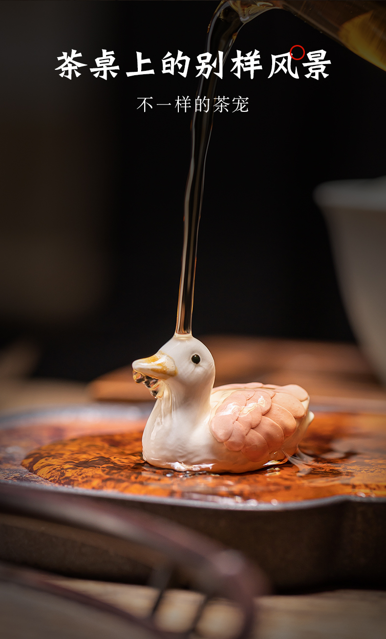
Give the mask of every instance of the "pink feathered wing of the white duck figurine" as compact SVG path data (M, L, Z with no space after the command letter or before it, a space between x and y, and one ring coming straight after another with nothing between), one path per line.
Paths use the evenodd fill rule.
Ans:
M251 461L268 461L302 423L309 396L295 384L252 382L213 389L211 403L215 439Z

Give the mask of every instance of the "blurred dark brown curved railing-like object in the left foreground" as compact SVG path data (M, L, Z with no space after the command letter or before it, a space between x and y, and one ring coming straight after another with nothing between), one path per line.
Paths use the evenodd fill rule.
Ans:
M116 601L112 602L108 593L107 597L104 596L103 587L98 592L98 587L93 588L92 583L87 581L82 587L80 580L63 580L59 575L55 578L54 574L38 573L12 564L0 564L0 583L8 581L9 585L18 585L19 590L24 590L19 592L19 597L17 590L16 593L8 595L8 606L11 610L7 610L6 606L3 613L9 636L24 639L25 636L33 635L26 627L24 633L22 632L20 612L15 615L15 608L19 607L20 611L23 603L29 612L29 621L35 626L35 636L38 635L39 627L44 633L43 636L49 636L49 631L54 632L53 620L50 619L52 613L49 615L49 611L46 611L49 619L42 624L39 615L31 615L31 611L28 610L33 607L31 599L33 603L34 597L31 595L34 591L35 599L38 599L35 604L38 604L38 608L42 608L42 604L44 608L44 603L46 606L48 604L48 608L54 608L54 619L56 617L58 625L63 623L66 612L70 612L68 616L72 617L71 625L76 626L77 618L78 624L86 622L82 606L78 606L78 610L76 606L72 611L71 606L70 611L63 610L63 603L69 600L86 604L100 613L110 613L112 619L125 620L128 626L127 636L130 637L133 631L130 626L134 626L134 636L144 638L167 639L169 636L170 639L170 635L167 634L170 632L176 633L176 639L193 633L204 637L214 634L219 639L248 639L251 636L257 620L254 597L267 592L268 581L242 553L226 548L186 527L135 509L114 505L105 500L95 501L82 497L79 500L75 495L54 495L52 491L36 490L26 486L0 486L0 511L1 524L6 531L12 524L19 524L19 527L21 524L22 528L24 525L24 545L30 544L29 564L34 561L35 550L29 529L38 520L40 530L48 534L51 540L59 533L58 556L63 537L66 541L77 539L78 543L75 546L91 546L98 548L102 554L107 550L111 555L120 555L123 563L127 564L126 580L148 586L147 589L142 589L145 590L142 593L145 597L142 597L143 605L139 610L139 606L135 606L135 601L131 606L120 605L117 608L114 606ZM7 532L4 536L6 539ZM8 554L6 548L3 548L1 557L7 557ZM13 553L11 551L12 554L15 555L15 548ZM16 563L20 563L20 559L17 559ZM73 571L71 559L67 570L70 574ZM83 567L83 571L85 570L87 568ZM185 602L183 599L181 601L181 596L178 601L177 596L174 606L170 601L173 595L170 597L169 590L173 585L190 590L185 594ZM26 592L28 589L29 597ZM47 597L46 601L39 601L39 597L36 596L39 592L59 597L57 606L52 605L52 602L50 606ZM141 596L141 593L139 594ZM216 610L213 615L213 604L214 608L218 607L219 599L222 615L226 616L226 624L219 619L218 611L217 620L213 619L213 616L216 617ZM170 608L174 608L174 611L171 612ZM40 615L42 613L43 610L40 610ZM45 615L42 616L44 618ZM101 614L100 617L103 620L104 615ZM71 633L65 636L69 635Z

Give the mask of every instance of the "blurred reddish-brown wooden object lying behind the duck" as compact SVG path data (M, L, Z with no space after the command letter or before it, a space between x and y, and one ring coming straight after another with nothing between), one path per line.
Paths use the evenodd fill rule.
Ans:
M311 402L341 410L386 411L386 389L355 344L204 335L216 363L215 385L259 380L285 385L297 383ZM89 385L93 399L104 401L150 401L143 384L136 384L132 367L107 373Z

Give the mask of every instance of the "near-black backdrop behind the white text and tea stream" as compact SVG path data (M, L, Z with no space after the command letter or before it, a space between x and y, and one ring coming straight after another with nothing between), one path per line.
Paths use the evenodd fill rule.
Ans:
M174 101L194 98L216 6L0 3L1 333L3 345L38 341L36 375L91 380L173 334L191 117ZM299 80L268 80L270 54L294 44L325 49L328 78L298 66ZM115 52L115 79L89 72L102 48ZM219 81L219 95L249 97L249 112L215 114L194 334L352 341L312 192L386 174L386 74L280 10L243 27L236 48L258 49L263 71L239 80L228 59ZM68 81L54 69L71 49L88 66ZM187 79L161 73L178 49L191 58ZM126 76L137 50L155 75Z

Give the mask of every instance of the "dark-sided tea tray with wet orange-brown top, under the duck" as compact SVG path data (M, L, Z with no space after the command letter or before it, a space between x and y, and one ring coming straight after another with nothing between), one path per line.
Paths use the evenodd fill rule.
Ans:
M314 458L311 466L210 475L143 463L141 430L150 408L91 404L3 417L0 481L119 500L169 517L242 550L278 587L382 581L386 415L316 410L301 445ZM46 555L47 544L56 540L58 548L57 532L45 533ZM26 534L30 551L41 544L38 529ZM44 564L36 552L34 565ZM74 562L79 573L79 557ZM83 569L90 574L87 562ZM104 571L117 578L108 561Z

